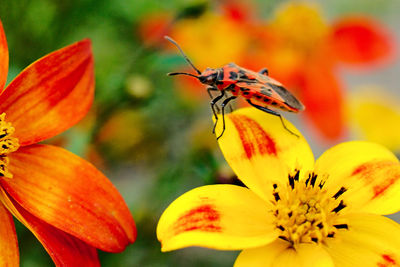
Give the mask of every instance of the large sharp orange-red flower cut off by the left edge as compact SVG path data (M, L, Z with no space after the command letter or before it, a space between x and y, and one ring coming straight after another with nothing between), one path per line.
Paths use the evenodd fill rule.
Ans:
M8 49L0 22L0 86ZM136 228L124 200L89 162L36 144L77 123L94 95L89 40L57 50L23 70L0 95L0 265L19 265L12 215L57 266L98 266L96 249L120 252Z

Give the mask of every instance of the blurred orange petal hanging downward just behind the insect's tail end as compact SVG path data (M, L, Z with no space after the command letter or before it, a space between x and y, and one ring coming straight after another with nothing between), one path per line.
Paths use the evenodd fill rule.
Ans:
M306 115L327 140L344 132L343 100L339 81L329 63L321 56L304 67L301 100Z

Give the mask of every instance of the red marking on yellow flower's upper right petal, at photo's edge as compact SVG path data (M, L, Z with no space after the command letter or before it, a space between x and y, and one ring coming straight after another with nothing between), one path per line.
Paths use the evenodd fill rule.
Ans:
M372 187L373 199L382 196L385 192L400 179L400 170L397 162L378 161L367 162L358 166L352 175L359 175L366 184L377 183L376 176L385 177Z

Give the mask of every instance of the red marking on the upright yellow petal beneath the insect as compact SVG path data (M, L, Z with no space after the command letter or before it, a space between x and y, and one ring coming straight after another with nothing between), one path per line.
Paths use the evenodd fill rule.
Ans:
M248 159L257 153L264 155L277 155L276 144L274 140L264 131L264 129L254 120L244 115L231 114L232 120L239 133L243 149Z

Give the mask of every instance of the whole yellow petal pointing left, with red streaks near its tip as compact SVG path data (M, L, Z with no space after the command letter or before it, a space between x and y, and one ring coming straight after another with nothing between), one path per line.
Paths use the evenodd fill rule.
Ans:
M189 246L236 250L268 244L277 238L268 207L269 203L244 187L193 189L161 215L157 226L161 250Z

